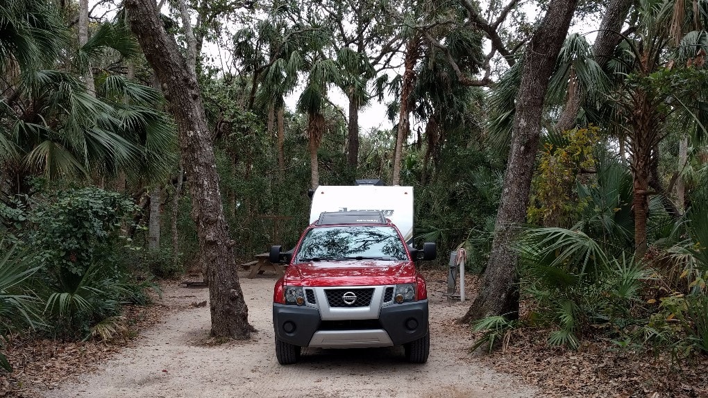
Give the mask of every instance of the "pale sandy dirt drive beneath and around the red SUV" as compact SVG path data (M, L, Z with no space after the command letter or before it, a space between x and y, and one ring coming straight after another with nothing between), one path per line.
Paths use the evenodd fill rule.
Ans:
M206 289L169 287L164 300L183 308L141 333L137 344L107 361L96 373L44 392L64 397L532 397L534 390L476 363L471 339L453 324L467 308L442 296L444 281L428 280L430 358L406 363L401 347L390 349L304 349L296 365L275 359L271 302L275 276L244 278L241 286L249 320L258 333L251 341L207 345Z

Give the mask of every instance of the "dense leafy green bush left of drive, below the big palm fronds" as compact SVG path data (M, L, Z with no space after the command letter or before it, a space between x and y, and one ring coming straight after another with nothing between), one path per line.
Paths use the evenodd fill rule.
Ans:
M130 241L123 228L130 226L128 219L136 211L130 199L97 188L30 199L23 216L27 221L15 231L15 239L23 250L33 253L34 266L21 271L27 267L23 262L10 261L14 265L7 269L6 280L25 292L14 303L20 303L21 297L41 308L35 312L16 308L16 315L26 318L36 313L38 320L31 326L74 338L86 336L91 325L118 315L121 303L147 303L144 290L154 285L149 279L136 281L128 273L125 257Z

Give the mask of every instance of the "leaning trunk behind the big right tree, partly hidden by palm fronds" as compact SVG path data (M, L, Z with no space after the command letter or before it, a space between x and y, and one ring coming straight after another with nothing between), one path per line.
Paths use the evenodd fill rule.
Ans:
M633 0L612 0L610 4L607 4L605 16L603 16L603 21L600 22L598 36L593 43L595 61L603 69L607 66L607 62L610 61L615 48L622 40L619 32L622 30L622 25L627 19L629 8L633 2ZM586 91L583 87L578 86L571 98L569 98L563 113L561 113L561 117L556 123L556 130L566 131L576 127L576 118L585 101L585 96Z

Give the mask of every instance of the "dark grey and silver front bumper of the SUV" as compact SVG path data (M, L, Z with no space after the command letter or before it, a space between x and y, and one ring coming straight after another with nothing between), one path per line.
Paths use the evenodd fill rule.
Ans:
M332 327L321 321L317 308L273 304L273 329L281 341L302 347L348 349L400 346L425 336L428 300L386 305L373 321L361 329Z

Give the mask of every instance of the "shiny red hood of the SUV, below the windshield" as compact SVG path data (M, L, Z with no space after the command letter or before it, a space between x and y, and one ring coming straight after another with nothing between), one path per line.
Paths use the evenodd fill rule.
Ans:
M292 264L285 279L300 279L302 286L371 286L413 283L409 261L343 260Z

